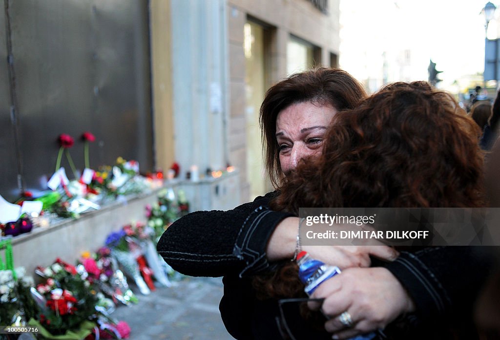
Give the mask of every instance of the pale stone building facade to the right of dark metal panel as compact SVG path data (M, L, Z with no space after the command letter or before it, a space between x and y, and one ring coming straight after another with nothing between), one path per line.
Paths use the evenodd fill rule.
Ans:
M338 0L151 1L158 164L176 160L203 171L233 165L240 202L271 190L260 103L292 72L337 66L338 7ZM163 46L159 54L156 46Z

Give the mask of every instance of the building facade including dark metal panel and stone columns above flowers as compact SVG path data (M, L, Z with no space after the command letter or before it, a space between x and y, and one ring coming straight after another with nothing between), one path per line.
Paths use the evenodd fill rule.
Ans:
M265 90L339 55L339 0L6 3L0 145L17 164L0 180L7 199L46 189L57 136L90 130L94 167L122 156L141 172L177 162L181 179L206 179L232 165L233 206L248 201L272 189L258 126Z

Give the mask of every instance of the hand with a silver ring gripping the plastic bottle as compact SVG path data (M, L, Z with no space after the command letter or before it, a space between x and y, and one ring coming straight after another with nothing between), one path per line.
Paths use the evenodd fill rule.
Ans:
M385 268L348 268L322 282L312 294L322 305L309 302L309 308L321 310L329 318L325 329L338 339L384 328L403 313L415 309L413 300L399 281ZM346 327L339 316L348 312L352 326Z

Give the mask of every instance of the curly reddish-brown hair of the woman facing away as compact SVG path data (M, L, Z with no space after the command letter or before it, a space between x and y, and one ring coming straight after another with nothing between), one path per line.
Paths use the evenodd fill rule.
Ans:
M321 156L302 161L271 206L297 214L299 207L484 206L480 132L448 93L426 82L389 84L333 117ZM289 263L256 278L257 289L274 297L285 296L281 285L296 291Z

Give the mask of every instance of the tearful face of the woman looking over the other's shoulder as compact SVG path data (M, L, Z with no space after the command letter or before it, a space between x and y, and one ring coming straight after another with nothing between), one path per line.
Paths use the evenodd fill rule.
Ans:
M276 140L279 145L279 163L285 175L297 166L300 159L321 153L323 135L336 112L329 105L317 106L304 101L278 113Z

